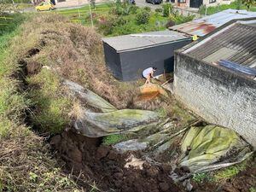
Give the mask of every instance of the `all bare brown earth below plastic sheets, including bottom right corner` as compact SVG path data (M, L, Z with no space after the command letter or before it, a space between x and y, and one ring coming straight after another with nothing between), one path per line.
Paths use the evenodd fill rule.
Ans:
M119 154L111 147L102 146L100 138L84 137L69 130L64 131L61 135L52 137L50 144L58 151L57 155L61 156L61 160L65 162L67 172L72 172L76 175L78 183L84 189L91 189L90 183L93 181L98 191L104 192L185 191L182 183L174 183L172 181L170 177L171 166L167 166L165 163L156 165L146 161L143 163L142 170L131 166L125 168L131 153ZM138 159L142 158L141 152L133 152L132 154ZM225 182L195 183L191 180L192 191L251 192L250 189L256 184L255 178L256 166L254 158L245 171ZM84 181L86 181L85 184Z

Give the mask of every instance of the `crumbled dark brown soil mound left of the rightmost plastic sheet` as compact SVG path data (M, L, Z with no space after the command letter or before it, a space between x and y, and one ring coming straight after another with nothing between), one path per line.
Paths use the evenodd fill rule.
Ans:
M82 180L96 181L97 187L103 191L183 191L169 177L171 166L157 166L145 161L143 169L125 168L131 153L119 154L113 148L100 146L100 142L73 131L63 132L50 141L66 161L67 169L73 170ZM140 153L133 155L141 158Z

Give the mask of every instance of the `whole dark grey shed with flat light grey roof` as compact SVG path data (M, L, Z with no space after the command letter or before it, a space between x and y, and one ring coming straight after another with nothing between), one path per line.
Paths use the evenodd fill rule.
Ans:
M155 75L170 73L174 50L191 42L181 32L169 30L102 38L106 64L116 79L129 81L142 78L148 67L157 67Z

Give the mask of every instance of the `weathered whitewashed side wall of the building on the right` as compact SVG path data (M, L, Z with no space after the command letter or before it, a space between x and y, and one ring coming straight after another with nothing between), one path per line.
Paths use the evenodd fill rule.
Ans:
M173 86L187 108L237 131L256 148L256 81L176 53Z

